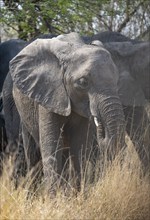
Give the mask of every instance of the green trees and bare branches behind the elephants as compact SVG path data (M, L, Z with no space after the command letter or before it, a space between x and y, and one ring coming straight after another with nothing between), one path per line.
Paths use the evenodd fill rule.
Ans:
M150 23L148 0L3 0L0 22L22 39L40 33L77 31L93 34L113 30L138 36ZM140 24L140 25L139 25ZM136 33L135 33L136 32Z

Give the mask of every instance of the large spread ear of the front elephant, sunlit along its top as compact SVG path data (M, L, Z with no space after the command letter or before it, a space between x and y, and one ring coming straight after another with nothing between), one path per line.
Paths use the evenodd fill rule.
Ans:
M63 84L62 63L70 52L70 44L57 38L35 40L10 62L13 83L43 107L68 116L71 105Z

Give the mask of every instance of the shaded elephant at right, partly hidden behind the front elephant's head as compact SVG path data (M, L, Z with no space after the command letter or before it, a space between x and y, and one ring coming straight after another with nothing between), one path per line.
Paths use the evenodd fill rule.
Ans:
M118 92L124 107L127 133L144 170L149 170L150 120L145 104L150 102L150 42L106 43L105 48L119 70Z

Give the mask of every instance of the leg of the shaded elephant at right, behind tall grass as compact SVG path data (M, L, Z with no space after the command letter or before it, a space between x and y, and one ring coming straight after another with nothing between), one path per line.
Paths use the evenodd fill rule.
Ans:
M124 107L126 130L130 136L144 172L150 166L150 121L143 106Z

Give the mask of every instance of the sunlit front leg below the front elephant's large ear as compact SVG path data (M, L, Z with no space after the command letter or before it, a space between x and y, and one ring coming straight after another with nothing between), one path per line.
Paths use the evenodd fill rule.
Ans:
M63 127L66 117L39 107L40 148L44 177L50 193L62 181Z

